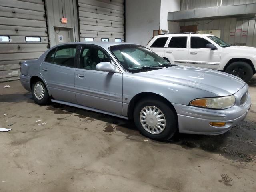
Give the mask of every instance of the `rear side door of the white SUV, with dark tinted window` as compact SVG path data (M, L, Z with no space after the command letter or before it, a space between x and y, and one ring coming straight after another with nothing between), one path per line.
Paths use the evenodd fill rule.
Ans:
M188 62L188 36L179 34L179 36L172 36L165 48L165 57L171 63L177 65L187 65Z

